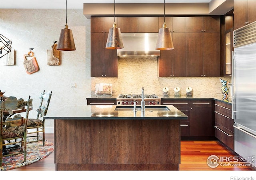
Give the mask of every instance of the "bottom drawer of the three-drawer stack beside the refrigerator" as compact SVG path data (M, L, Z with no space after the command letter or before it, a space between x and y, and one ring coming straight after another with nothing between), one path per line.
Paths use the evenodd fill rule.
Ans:
M231 150L234 150L234 133L215 124L215 137L228 146Z

